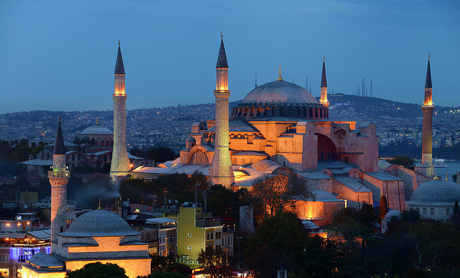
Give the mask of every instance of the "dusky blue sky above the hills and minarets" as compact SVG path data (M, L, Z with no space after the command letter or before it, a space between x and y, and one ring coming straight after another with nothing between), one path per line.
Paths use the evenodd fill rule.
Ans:
M231 101L257 83L422 103L428 53L433 102L460 105L460 2L0 1L0 113L112 109L118 40L127 108L214 102L223 31Z

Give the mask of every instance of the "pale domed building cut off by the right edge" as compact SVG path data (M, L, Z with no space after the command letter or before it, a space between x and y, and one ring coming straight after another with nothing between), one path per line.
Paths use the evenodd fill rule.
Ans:
M455 201L460 201L460 184L435 178L420 184L406 206L417 210L422 218L447 220Z

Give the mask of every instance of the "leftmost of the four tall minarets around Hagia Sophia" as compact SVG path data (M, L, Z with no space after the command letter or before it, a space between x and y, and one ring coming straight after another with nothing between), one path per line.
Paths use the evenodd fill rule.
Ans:
M126 93L125 67L118 42L117 63L115 65L115 92L113 94L113 150L110 178L118 181L131 170L126 151Z

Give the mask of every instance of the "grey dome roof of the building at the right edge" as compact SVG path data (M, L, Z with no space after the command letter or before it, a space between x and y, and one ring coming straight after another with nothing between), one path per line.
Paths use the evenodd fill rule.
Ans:
M430 180L420 184L410 197L410 204L447 203L460 200L460 185L449 180Z

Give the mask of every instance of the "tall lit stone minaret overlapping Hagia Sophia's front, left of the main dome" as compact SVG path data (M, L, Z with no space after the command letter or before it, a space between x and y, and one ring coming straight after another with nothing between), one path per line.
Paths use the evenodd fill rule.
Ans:
M230 186L235 181L230 152L228 150L228 63L221 33L219 56L216 65L216 131L214 157L209 170L209 179L214 184Z

